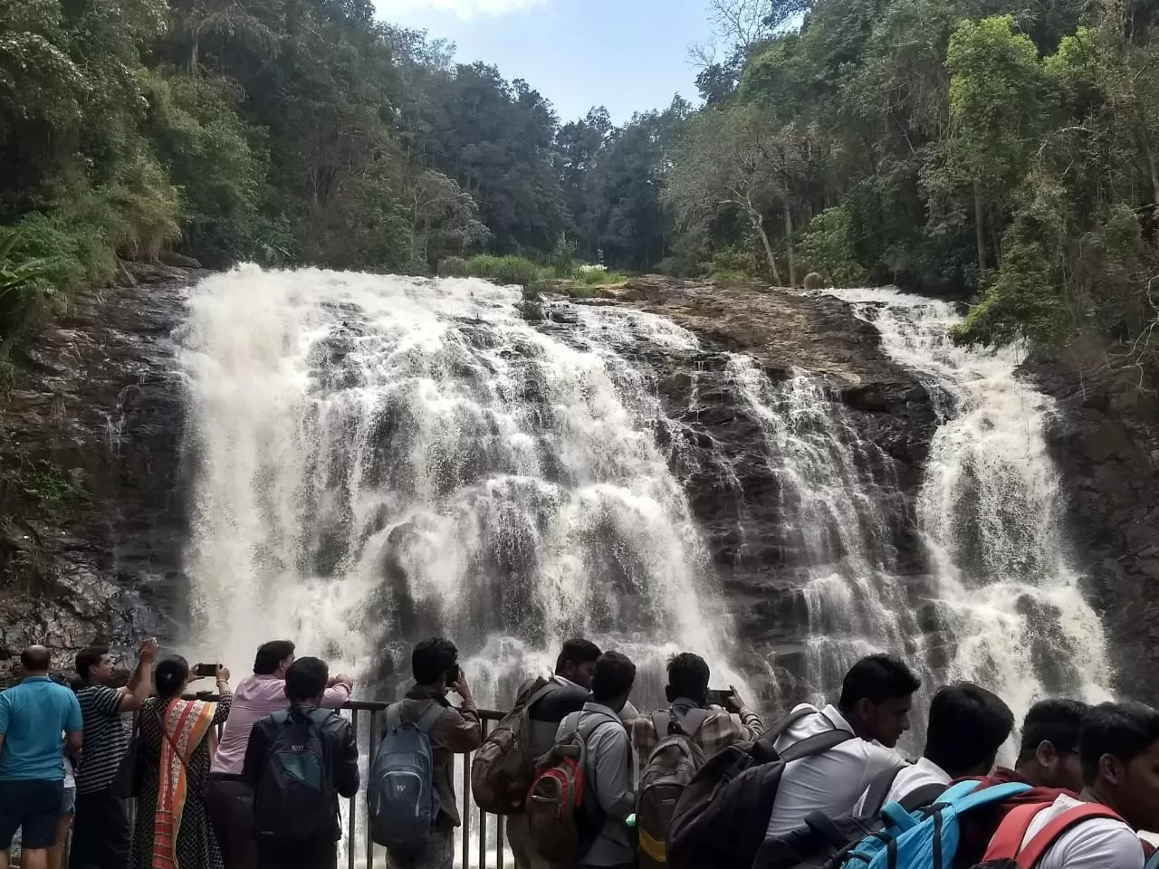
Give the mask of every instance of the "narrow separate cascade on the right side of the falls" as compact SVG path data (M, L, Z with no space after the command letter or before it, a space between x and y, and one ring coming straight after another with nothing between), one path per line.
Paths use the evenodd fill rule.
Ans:
M917 372L939 428L918 498L930 561L927 659L1015 713L1043 696L1109 698L1099 618L1066 546L1065 494L1045 428L1051 400L1018 377L1016 348L956 346L955 306L890 290L836 291L873 322L882 345Z

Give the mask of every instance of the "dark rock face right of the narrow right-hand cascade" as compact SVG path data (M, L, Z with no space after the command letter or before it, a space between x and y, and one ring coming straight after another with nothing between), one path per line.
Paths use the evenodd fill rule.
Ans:
M1103 611L1115 687L1159 699L1159 396L1139 371L1037 360L1076 556Z

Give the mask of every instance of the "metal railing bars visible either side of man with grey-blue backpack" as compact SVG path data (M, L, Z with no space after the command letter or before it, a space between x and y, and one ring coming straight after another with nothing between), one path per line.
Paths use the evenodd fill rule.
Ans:
M355 740L359 745L359 752L364 753L366 758L366 768L374 762L374 753L378 750L378 743L381 739L380 726L380 715L386 713L386 708L389 703L370 703L358 700L352 700L342 708L350 713L350 725L353 730ZM480 725L483 731L483 739L487 738L487 733L490 730L493 722L501 721L506 713L496 711L494 709L480 709ZM363 724L359 720L365 720ZM363 750L365 745L365 751ZM458 838L461 845L460 849L460 863L462 869L471 869L475 867L476 869L503 869L504 864L504 825L503 817L498 815L489 815L482 811L475 801L471 797L471 760L472 754L459 754L457 757L457 767L461 765L461 775L459 776L459 783L455 788L455 797L459 801L459 806L461 810L462 826L458 830ZM356 869L357 867L365 867L365 869L373 869L376 852L381 852L381 848L376 846L370 838L370 813L366 806L366 781L363 780L362 787L358 794L350 797L348 801L348 806L345 811L344 828L342 831L343 841L347 847L347 869ZM362 811L359 811L359 803L362 803ZM362 841L358 841L358 819L363 823L363 837ZM494 831L494 837L491 841L488 841L488 827ZM472 835L474 833L474 837ZM494 853L491 852L494 847ZM362 850L363 854L358 852ZM474 852L474 853L473 853ZM365 862L360 861L363 857ZM475 857L473 861L472 857ZM488 860L490 859L490 862Z

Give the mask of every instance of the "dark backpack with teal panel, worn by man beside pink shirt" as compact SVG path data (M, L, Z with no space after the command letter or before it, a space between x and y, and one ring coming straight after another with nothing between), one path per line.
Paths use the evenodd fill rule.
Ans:
M296 842L334 830L337 791L322 729L337 713L274 713L277 724L254 794L254 834L264 842Z

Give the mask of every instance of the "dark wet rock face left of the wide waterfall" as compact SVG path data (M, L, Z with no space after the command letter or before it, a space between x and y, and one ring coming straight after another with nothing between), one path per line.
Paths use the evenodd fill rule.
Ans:
M183 609L182 386L170 334L196 273L92 292L10 359L0 417L0 674L44 643L175 635ZM129 663L129 662L124 662Z

